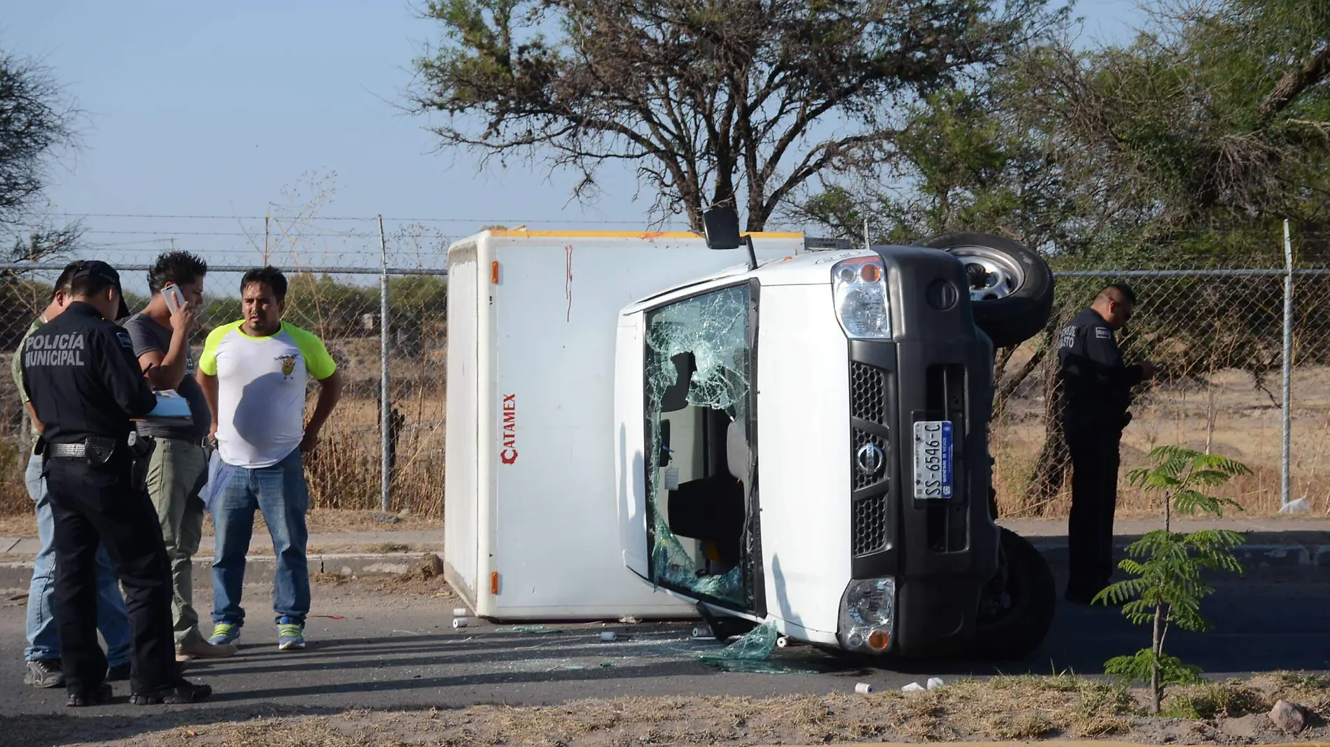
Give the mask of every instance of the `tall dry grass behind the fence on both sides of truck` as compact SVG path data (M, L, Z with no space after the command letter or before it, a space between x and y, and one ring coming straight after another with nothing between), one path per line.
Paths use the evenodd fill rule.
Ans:
M374 399L378 362L370 352L355 350L348 355L346 368L351 385L325 428L318 453L306 467L315 509L372 512L380 504L379 411ZM411 362L394 362L394 405L404 425L398 439L392 508L434 520L443 517L444 501L442 371L442 351L430 351ZM1317 514L1330 514L1330 488L1326 486L1330 484L1330 368L1299 368L1293 387L1294 497L1309 498ZM992 425L994 482L1003 516L1057 517L1069 509L1071 497L1065 489L1051 504L1035 510L1024 505L1044 441L1043 408L1031 380ZM1252 376L1226 371L1212 376L1208 385L1160 388L1133 409L1136 419L1123 444L1119 514L1157 513L1158 506L1152 500L1127 485L1125 472L1145 464L1149 451L1160 444L1200 449L1209 445L1246 463L1254 473L1233 481L1224 494L1236 500L1249 516L1271 516L1278 510L1281 411ZM11 413L4 408L0 432L15 432L12 425ZM20 516L27 521L31 512L32 502L23 485L27 465L23 456L19 440L0 441L0 534L24 534L11 532L4 517ZM380 524L374 528L404 526Z

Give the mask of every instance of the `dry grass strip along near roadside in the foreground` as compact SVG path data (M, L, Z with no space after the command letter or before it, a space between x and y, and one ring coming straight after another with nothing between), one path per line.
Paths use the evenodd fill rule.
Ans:
M790 695L779 698L661 696L577 700L557 706L471 706L424 711L347 711L250 720L203 720L198 711L153 714L120 730L120 740L93 734L90 719L5 719L11 734L41 730L43 743L80 739L117 746L245 747L367 746L641 746L814 744L857 740L1033 740L1115 736L1145 743L1241 743L1315 740L1323 726L1293 736L1274 731L1262 714L1287 698L1325 714L1327 683L1298 675L1267 677L1193 689L1193 698L1222 702L1226 712L1201 719L1150 718L1133 694L1072 677L956 682L931 693ZM1201 693L1208 695L1201 695ZM1221 694L1226 693L1226 694ZM259 715L259 714L251 714ZM1244 719L1244 720L1238 720ZM136 719L137 720L137 719ZM56 742L59 740L59 742Z

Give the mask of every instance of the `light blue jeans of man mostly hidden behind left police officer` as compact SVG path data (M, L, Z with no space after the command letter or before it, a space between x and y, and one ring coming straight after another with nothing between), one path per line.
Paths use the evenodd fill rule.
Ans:
M28 482L28 496L37 508L37 537L41 550L32 564L32 584L28 586L28 647L24 658L29 662L60 658L60 626L51 603L56 589L56 525L51 516L51 498L47 496L47 480L41 476L41 457L28 460L24 473ZM106 546L97 549L97 630L106 639L106 663L120 666L129 663L129 617L125 614L125 598L120 595L120 582L116 569L110 566Z

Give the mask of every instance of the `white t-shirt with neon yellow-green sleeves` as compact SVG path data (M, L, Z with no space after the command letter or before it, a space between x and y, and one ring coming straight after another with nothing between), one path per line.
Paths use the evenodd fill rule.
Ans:
M241 331L242 322L213 330L198 368L217 376L217 451L222 461L257 469L286 459L305 437L307 376L336 371L323 342L282 322L267 338Z

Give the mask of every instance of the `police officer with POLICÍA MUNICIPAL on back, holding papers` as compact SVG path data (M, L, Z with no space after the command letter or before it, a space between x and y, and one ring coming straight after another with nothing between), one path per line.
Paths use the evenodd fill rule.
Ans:
M129 315L120 275L105 262L81 262L69 295L65 311L33 331L23 350L24 388L44 425L39 448L55 518L55 606L68 704L94 706L112 695L97 643L98 542L125 587L130 700L202 700L211 689L186 682L176 665L170 561L142 482L145 444L130 439L130 417L146 415L157 397L129 334L109 320Z

